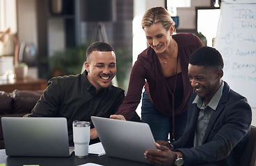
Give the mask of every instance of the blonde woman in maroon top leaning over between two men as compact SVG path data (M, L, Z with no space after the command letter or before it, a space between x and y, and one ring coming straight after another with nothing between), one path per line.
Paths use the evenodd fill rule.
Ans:
M143 93L141 120L150 124L155 140L177 140L186 126L187 102L193 93L189 83L189 56L203 46L193 34L177 34L175 22L162 7L150 8L142 19L147 44L135 62L129 88L118 112L130 120ZM146 81L146 82L145 82Z

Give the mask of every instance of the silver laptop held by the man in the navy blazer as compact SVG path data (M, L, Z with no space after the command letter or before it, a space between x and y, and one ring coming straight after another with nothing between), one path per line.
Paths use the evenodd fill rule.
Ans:
M95 116L91 120L107 156L150 163L144 153L157 147L148 124Z

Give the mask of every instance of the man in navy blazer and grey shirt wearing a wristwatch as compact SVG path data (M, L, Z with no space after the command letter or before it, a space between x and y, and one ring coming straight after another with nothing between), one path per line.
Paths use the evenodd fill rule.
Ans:
M145 158L154 165L239 165L250 134L250 105L221 79L223 59L215 48L195 50L188 75L196 92L184 135L171 145L157 142L160 151L148 150Z

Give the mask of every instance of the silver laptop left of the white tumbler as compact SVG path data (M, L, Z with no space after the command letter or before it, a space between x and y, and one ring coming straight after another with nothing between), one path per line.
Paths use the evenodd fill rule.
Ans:
M66 118L1 118L7 156L68 157Z

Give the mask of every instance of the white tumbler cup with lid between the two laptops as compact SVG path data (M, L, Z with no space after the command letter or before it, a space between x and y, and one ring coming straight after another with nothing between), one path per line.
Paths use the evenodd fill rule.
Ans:
M73 122L74 155L88 156L90 142L90 122L75 120Z

